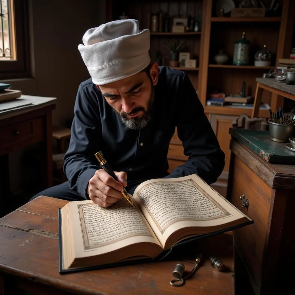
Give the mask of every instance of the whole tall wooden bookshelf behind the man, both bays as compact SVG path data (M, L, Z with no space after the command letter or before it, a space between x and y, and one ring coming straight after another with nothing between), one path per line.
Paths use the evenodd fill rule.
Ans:
M202 16L201 30L199 32L172 33L151 32L150 57L155 61L155 52L163 53L163 64L169 65L169 56L164 45L169 38L185 40L183 52L190 52L191 58L197 59L197 68L183 68L204 106L205 113L212 125L222 150L225 153L225 168L217 183L212 185L219 193L225 196L227 178L230 163L230 134L228 129L232 126L233 119L242 113L251 115L252 109L237 108L230 106L207 106L207 93L211 90L224 91L227 94L237 94L241 91L242 83L246 83L246 95L255 94L257 77L269 72L278 64L278 59L288 57L291 49L292 34L294 28L295 1L279 0L280 13L276 16L266 17L217 17L215 5L218 0L144 0L144 1L107 1L107 15L109 21L118 19L122 12L130 18L138 19L140 28L148 27L148 13L155 14L160 10L169 16L196 17ZM236 7L242 0L234 0ZM271 0L264 0L266 7L270 6ZM246 38L251 42L249 65L232 65L235 41L246 32ZM266 44L268 50L273 54L273 60L269 67L254 66L254 54ZM229 56L227 64L218 65L214 56L219 49L223 49ZM274 95L274 94L272 94ZM269 103L272 109L283 104L283 98L273 97L265 91L263 102ZM268 117L268 110L261 109L260 117ZM177 135L171 140L168 163L169 171L183 163L186 157L183 155L181 142Z

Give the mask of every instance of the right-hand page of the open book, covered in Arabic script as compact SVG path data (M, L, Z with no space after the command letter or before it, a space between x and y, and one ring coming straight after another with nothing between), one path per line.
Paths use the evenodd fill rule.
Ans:
M153 179L133 194L160 242L185 227L213 227L245 217L195 174Z

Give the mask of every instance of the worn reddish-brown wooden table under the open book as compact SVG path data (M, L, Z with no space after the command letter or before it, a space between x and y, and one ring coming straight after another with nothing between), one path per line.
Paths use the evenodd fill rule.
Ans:
M42 295L234 294L231 232L200 240L203 263L181 287L169 283L179 260L59 274L58 208L66 203L40 196L0 219L1 295L20 294L17 288ZM223 260L227 270L213 268L209 255ZM192 264L184 264L191 270Z

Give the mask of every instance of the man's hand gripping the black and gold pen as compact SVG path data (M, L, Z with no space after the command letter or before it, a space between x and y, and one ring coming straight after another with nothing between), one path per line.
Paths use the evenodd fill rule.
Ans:
M116 181L103 169L96 170L89 180L88 194L90 199L101 207L109 207L123 198L121 193L123 186L127 186L127 174L114 172L119 179Z

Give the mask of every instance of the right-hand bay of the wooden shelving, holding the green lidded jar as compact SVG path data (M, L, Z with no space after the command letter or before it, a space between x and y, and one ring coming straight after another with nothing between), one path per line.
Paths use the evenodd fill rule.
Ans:
M237 94L246 83L246 95L255 95L257 77L276 68L278 59L288 57L291 50L292 30L294 27L295 1L281 1L281 16L279 17L215 17L217 0L206 1L203 34L201 35L202 55L199 72L199 99L204 106L205 113L209 116L210 123L222 150L225 153L225 167L220 180L227 183L230 164L230 134L229 127L232 121L241 114L251 116L252 109L236 108L230 106L207 106L207 93L217 90L226 94ZM265 3L265 5L268 5ZM288 30L287 30L288 28ZM291 29L290 29L291 28ZM291 32L290 32L291 31ZM235 41L246 32L250 45L250 64L245 66L232 65ZM275 60L270 67L255 67L254 54L266 44ZM217 65L214 56L219 49L223 49L229 56L228 64ZM222 74L221 74L222 73ZM263 96L264 103L270 103L271 95ZM280 98L277 98L280 101ZM273 106L271 106L273 108ZM259 110L259 117L269 117L269 111Z

